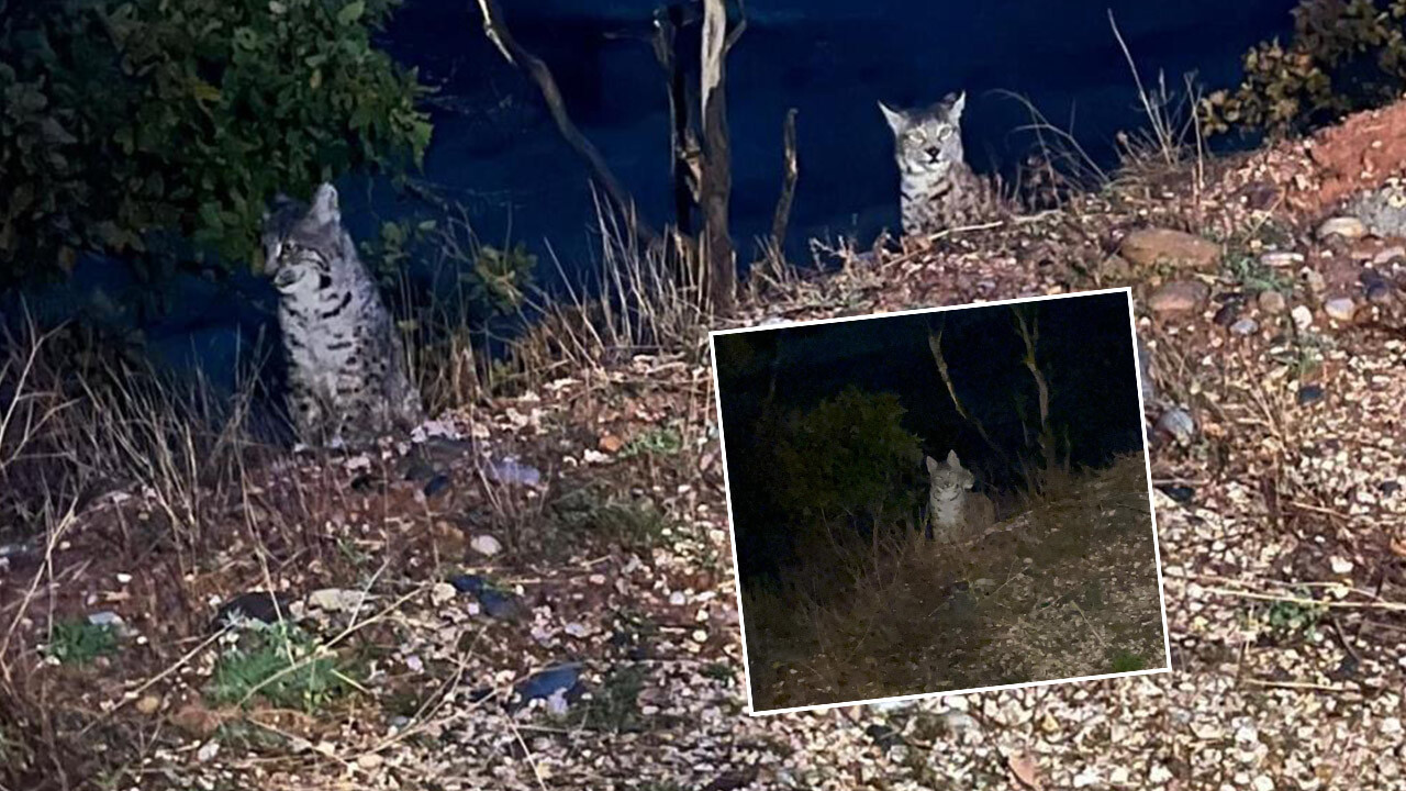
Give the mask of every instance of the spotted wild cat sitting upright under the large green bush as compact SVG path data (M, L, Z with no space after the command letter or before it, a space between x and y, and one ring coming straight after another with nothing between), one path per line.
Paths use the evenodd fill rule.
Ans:
M311 205L280 196L264 215L263 245L298 439L339 446L419 425L401 336L342 227L336 189L319 186Z

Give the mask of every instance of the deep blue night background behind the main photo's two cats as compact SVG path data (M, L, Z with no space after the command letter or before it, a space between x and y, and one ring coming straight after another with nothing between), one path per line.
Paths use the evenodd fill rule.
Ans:
M576 122L600 148L655 224L668 220L666 96L650 49L654 0L510 0L508 21L561 83ZM799 108L801 176L790 252L806 239L853 235L866 243L897 225L891 135L875 103L911 106L969 93L967 158L980 170L1010 169L1032 142L1026 113L994 90L1033 101L1073 129L1091 156L1114 163L1119 129L1143 125L1132 76L1109 30L1111 7L1144 82L1171 86L1198 72L1208 87L1233 84L1254 42L1286 32L1291 0L754 0L749 27L728 61L734 146L733 227L740 258L770 221L780 184L780 125ZM503 62L471 1L408 0L384 46L437 87L436 131L423 179L464 201L486 243L522 241L544 280L593 270L593 208L581 159L561 141L536 87ZM382 220L423 210L380 183L339 184L359 239ZM42 318L70 314L101 287L124 304L134 280L110 262L80 263L66 289L30 293ZM142 329L159 362L201 363L217 384L233 367L236 341L273 329L271 291L252 277L231 298L197 277L173 287L176 310ZM14 315L15 294L0 301ZM263 310L259 310L259 305ZM228 384L228 381L225 381Z

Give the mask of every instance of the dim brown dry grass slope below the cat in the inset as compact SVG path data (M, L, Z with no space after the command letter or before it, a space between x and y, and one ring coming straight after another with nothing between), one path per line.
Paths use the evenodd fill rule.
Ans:
M1146 557L1139 562L1150 573L1143 456L1119 457L1105 470L1070 473L1062 486L1024 497L1026 508L1019 515L973 542L935 543L907 532L890 536L877 553L860 557L856 546L830 563L813 563L779 587L744 586L756 708L1001 684L1025 678L1026 662L1060 666L1059 659L1024 652L1001 656L1004 662L993 666L972 663L993 659L987 643L1024 624L1022 602L1028 607L1081 587L1097 588L1099 597L1102 588L1115 597L1122 593L1118 586L1126 580L1085 578L1088 571L1078 563L1090 548L1144 543ZM1111 514L1119 517L1111 519ZM1028 574L1029 569L1036 571ZM815 586L815 580L834 578L853 583L838 593ZM1140 581L1156 586L1154 576ZM1081 612L1098 656L1107 653L1102 633L1109 629L1088 621L1115 619L1098 612L1101 607L1099 598L1092 611ZM1152 642L1160 643L1160 632ZM1032 680L1057 677L1038 673Z

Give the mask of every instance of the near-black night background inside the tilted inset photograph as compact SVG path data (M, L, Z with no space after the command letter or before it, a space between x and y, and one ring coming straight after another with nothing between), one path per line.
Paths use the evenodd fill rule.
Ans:
M1114 455L1142 450L1142 415L1125 293L1032 303L1039 319L1036 360L1050 388L1050 425L1069 431L1073 467L1107 466ZM945 459L955 449L979 488L1012 491L1019 470L1005 467L962 419L928 349L928 328L942 331L942 350L963 405L1012 459L1031 460L1014 398L1024 397L1038 432L1036 390L1022 363L1025 346L1007 305L845 321L776 334L772 414L804 412L846 386L898 396L903 428L922 450ZM728 486L744 578L773 577L790 566L793 519L775 505L776 464L758 425L773 372L742 367L738 338L716 336ZM927 491L918 464L912 486Z

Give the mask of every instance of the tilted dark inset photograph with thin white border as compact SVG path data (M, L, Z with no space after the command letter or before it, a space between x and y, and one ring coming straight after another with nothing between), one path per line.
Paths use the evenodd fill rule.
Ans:
M1170 667L1126 289L711 343L752 714Z

